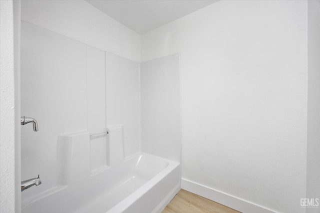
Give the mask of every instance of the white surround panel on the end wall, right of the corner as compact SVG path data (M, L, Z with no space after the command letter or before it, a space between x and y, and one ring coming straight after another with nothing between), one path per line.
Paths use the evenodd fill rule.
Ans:
M179 54L140 64L141 149L181 161Z

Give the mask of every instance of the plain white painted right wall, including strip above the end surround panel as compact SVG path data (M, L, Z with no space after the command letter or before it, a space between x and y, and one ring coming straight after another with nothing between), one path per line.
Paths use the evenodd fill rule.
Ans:
M218 1L141 42L142 61L181 54L182 179L196 186L189 190L215 190L259 212L300 213L307 1Z

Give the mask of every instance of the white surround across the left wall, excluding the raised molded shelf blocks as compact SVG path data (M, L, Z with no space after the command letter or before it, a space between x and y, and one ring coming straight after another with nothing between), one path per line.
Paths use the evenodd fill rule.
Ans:
M123 125L125 155L139 150L138 68L134 61L22 21L21 115L35 118L39 131L21 127L21 173L22 180L39 174L42 181L24 191L22 201L60 184L59 135ZM107 149L105 136L90 140L91 172L107 164Z

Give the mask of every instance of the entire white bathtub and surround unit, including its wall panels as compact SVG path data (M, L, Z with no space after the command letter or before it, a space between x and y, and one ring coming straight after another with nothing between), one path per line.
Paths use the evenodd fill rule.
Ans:
M176 132L160 129L166 149L145 152L140 93L148 87L140 88L138 63L30 23L22 21L21 29L21 111L39 125L38 132L22 129L22 178L39 174L42 181L22 193L22 212L163 210L180 189L179 56L156 63L165 69L174 65L169 70L174 71L173 81L169 72L156 81L152 75L161 70L149 66L148 79L174 85L177 100L174 107L163 102L166 106L159 106L165 108L143 109L163 113ZM163 120L161 124L166 125ZM145 138L144 144L158 147L163 136Z

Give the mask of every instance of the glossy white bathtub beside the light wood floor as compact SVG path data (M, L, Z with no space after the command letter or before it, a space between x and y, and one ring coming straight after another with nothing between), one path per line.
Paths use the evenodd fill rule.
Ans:
M139 153L22 201L22 213L158 213L179 189L178 162Z

